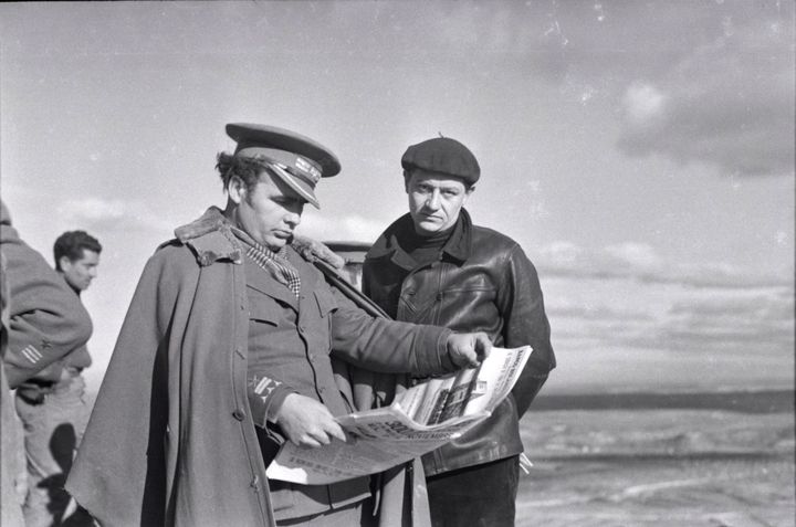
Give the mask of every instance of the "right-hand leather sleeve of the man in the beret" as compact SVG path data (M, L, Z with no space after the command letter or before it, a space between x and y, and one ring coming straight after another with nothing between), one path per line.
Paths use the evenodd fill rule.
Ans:
M512 390L517 417L522 418L555 368L551 329L544 310L544 298L536 268L520 245L507 255L504 284L499 302L503 312L505 346L531 345L534 349L520 380Z

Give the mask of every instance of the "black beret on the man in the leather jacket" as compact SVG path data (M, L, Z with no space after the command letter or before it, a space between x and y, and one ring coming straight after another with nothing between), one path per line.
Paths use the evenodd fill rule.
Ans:
M405 170L421 168L431 172L454 176L473 185L481 176L481 167L468 147L450 137L434 137L407 148L401 157Z

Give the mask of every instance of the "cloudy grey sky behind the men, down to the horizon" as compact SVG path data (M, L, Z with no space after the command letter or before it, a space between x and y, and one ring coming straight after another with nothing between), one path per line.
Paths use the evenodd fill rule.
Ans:
M338 156L326 241L407 211L409 145L465 144L474 222L540 273L547 393L792 389L795 55L790 1L2 3L0 190L48 259L104 246L91 387L242 122Z

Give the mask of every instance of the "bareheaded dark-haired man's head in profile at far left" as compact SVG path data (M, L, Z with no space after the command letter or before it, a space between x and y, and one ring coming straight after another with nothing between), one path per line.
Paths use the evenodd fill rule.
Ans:
M85 291L96 278L102 245L85 231L67 231L53 245L55 270L76 292Z

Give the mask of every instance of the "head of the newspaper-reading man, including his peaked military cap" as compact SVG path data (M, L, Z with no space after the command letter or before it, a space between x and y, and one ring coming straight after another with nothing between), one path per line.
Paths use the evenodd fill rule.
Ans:
M334 154L313 139L273 126L230 124L234 154L216 168L229 196L226 214L272 251L290 243L304 203L320 207L315 185L339 172Z

